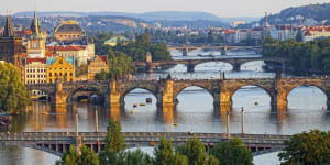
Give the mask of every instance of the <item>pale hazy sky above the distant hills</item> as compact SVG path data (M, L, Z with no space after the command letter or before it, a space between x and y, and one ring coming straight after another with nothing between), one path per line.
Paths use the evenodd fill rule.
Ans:
M2 2L1 2L2 1ZM205 11L221 18L263 16L265 12L330 0L0 0L0 14L21 11Z

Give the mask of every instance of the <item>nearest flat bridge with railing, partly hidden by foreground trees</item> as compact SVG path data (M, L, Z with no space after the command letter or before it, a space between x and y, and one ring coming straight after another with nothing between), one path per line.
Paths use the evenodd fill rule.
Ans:
M41 150L55 155L63 155L68 151L70 144L79 151L81 144L99 153L105 148L106 132L0 132L0 145L14 145ZM187 132L122 132L128 147L154 146L157 145L162 136L173 142L174 146L183 145L191 133ZM264 134L234 134L230 136L226 133L194 133L206 146L210 146L228 141L229 138L241 139L244 144L254 153L264 154L280 151L284 141L290 135L264 135Z

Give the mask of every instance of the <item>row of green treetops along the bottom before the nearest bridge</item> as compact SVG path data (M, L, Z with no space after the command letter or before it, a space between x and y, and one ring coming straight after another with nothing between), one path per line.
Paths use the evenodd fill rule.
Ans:
M160 145L154 150L154 156L141 150L124 151L125 143L121 134L119 121L110 119L107 128L106 148L99 156L86 146L79 155L72 146L68 153L57 161L59 165L252 165L252 153L241 140L233 139L221 142L206 152L206 146L197 138L191 138L183 146L173 147L170 141L161 139Z

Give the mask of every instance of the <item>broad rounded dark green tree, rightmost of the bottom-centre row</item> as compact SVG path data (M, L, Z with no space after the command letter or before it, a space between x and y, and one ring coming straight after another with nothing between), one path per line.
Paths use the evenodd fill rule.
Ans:
M239 139L220 142L210 150L210 154L219 160L219 165L253 165L251 151Z

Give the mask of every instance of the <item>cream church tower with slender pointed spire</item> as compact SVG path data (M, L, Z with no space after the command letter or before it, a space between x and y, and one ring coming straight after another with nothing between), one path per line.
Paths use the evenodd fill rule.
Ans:
M29 58L43 58L45 57L46 37L41 34L40 23L34 11L34 18L31 23L32 34L28 40L26 53Z

